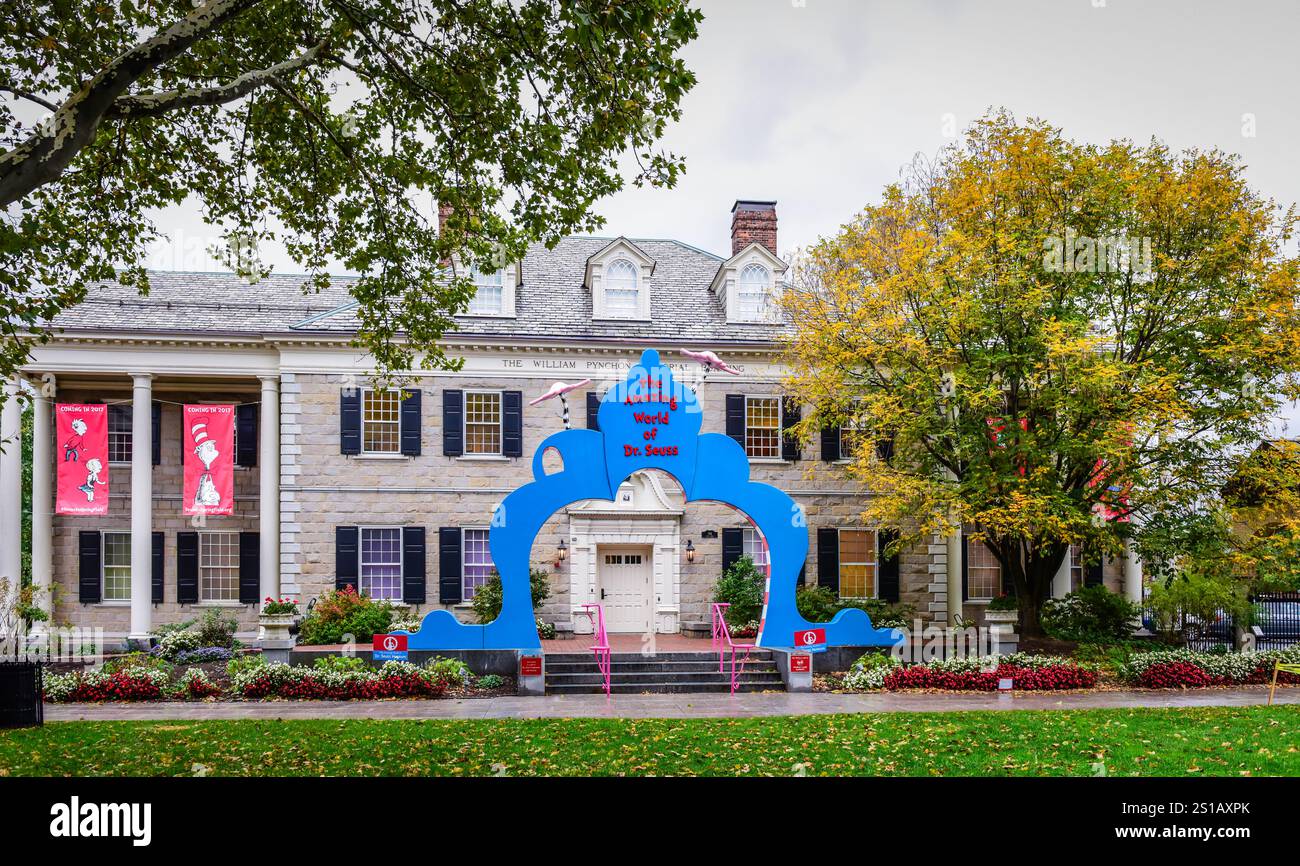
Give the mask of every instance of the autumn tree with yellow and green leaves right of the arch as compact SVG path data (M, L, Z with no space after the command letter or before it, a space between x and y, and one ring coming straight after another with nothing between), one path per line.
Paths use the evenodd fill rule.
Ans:
M1295 224L1234 156L992 113L800 263L802 432L855 430L864 516L961 524L1037 636L1069 545L1219 490L1300 390Z

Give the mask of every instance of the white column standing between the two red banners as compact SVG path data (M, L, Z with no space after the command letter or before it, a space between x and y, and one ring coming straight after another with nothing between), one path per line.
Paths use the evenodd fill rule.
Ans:
M147 641L153 618L153 376L131 373L131 640Z

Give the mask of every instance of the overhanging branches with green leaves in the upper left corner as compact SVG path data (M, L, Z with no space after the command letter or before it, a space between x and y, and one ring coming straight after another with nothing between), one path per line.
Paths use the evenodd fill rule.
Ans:
M88 282L147 291L148 213L190 198L248 280L270 238L307 290L332 260L360 274L381 376L455 367L437 341L472 285L445 263L597 228L623 155L637 185L676 181L655 142L701 18L689 0L10 0L0 378Z

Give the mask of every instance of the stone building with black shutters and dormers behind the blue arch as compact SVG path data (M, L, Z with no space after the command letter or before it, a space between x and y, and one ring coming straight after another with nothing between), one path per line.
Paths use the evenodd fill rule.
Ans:
M802 447L783 434L800 408L781 390L786 325L774 295L786 264L776 250L771 202L736 203L725 256L625 237L534 247L498 273L474 274L477 295L445 339L463 369L412 372L404 391L372 387L351 343L358 320L346 278L308 295L304 278L289 276L247 285L153 273L143 298L98 286L53 322L23 371L36 410L34 581L53 588L46 603L55 622L103 627L110 641L208 607L228 609L254 635L261 598L306 602L347 584L412 614L442 606L468 619L491 573L493 508L530 479L534 449L563 424L559 400L529 400L555 381L592 378L569 404L576 426L593 425L599 393L654 347L698 393L703 430L734 437L751 476L803 507L806 581L907 605L933 622L948 618L950 590L962 588L965 618L979 620L1001 590L983 547L967 545L952 580L956 541L885 560L883 540L859 518L867 492L842 469L840 432ZM705 372L682 348L714 350L740 374ZM52 514L55 402L109 404L104 518ZM185 403L239 407L231 516L182 515ZM14 400L4 420L8 436ZM16 450L3 459L0 547L10 553L0 568L13 568ZM532 551L551 583L538 614L581 632L590 625L578 606L599 599L610 631L707 628L714 584L741 555L766 559L742 515L686 507L671 477L638 473L614 502L551 516ZM1058 590L1097 580L1119 590L1122 568L1067 562Z

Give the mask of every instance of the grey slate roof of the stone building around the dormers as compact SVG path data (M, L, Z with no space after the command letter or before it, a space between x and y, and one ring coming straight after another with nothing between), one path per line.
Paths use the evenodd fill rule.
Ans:
M677 241L630 239L655 260L650 277L651 321L592 319L592 291L582 285L588 259L614 238L566 238L554 250L536 244L521 264L515 317L458 316L458 335L563 339L655 339L771 343L781 324L728 324L708 285L724 259ZM92 286L84 303L64 311L55 329L105 332L205 332L220 334L350 334L356 330L348 277L303 294L303 276L270 276L248 285L234 274L151 272L140 296L118 283Z

